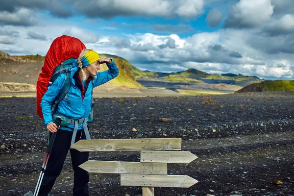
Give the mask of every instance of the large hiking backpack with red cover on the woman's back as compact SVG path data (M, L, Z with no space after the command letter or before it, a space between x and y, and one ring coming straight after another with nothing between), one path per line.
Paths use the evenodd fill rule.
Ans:
M63 35L53 40L44 60L42 71L37 81L37 114L43 119L41 108L41 99L56 78L66 73L66 83L52 104L51 113L53 114L57 108L58 102L66 97L71 86L69 66L73 64L82 49L86 49L85 45L77 38Z

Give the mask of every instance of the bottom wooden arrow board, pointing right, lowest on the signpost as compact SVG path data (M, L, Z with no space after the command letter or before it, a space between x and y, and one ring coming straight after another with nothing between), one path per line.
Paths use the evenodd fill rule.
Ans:
M197 182L188 175L121 174L121 186L189 188Z

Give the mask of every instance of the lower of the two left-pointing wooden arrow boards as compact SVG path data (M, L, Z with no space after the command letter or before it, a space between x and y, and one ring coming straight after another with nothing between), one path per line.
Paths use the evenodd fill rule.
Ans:
M90 173L168 174L168 167L166 163L87 161L79 167Z

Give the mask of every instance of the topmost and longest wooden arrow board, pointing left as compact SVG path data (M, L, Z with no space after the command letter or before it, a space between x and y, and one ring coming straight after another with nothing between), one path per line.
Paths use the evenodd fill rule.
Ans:
M80 140L73 144L71 148L81 152L180 150L181 142L181 138Z

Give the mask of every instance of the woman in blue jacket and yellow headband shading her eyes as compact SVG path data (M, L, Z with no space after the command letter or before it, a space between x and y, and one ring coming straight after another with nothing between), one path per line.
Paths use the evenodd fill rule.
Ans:
M106 63L108 70L98 72L102 63ZM96 51L83 49L78 59L73 63L69 92L58 103L56 114L53 117L51 105L64 86L65 74L58 76L42 98L41 107L47 129L50 131L50 135L52 133L57 135L42 180L39 196L47 196L53 187L62 170L71 144L89 137L87 122L90 119L91 107L93 106L93 88L115 78L118 74L119 70L112 59L100 59ZM56 118L63 120L59 128L55 124ZM73 196L88 196L89 173L78 166L88 160L89 152L79 152L75 149L70 149L70 152L74 171Z

